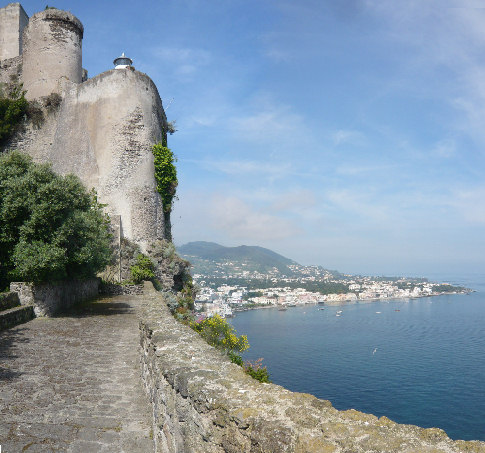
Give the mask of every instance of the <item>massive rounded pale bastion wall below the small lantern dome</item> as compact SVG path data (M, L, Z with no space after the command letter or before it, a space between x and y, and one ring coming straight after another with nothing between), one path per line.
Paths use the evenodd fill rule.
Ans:
M123 237L145 250L148 242L164 238L151 151L166 122L158 90L132 69L113 69L65 88L59 110L10 148L94 187L108 213L121 216Z

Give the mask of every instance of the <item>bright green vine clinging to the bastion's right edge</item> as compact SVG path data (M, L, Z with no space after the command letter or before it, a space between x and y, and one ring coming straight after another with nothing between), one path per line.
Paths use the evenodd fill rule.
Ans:
M175 167L177 158L170 148L167 148L162 143L153 145L152 152L155 156L157 191L162 197L164 212L170 213L178 185L177 168Z

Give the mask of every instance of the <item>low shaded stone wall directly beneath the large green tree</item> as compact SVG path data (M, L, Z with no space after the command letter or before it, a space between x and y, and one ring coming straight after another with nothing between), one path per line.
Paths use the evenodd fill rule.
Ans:
M71 280L34 285L10 283L10 291L18 293L22 305L34 305L36 316L53 316L74 304L98 295L99 279Z

